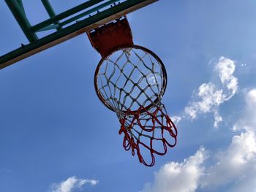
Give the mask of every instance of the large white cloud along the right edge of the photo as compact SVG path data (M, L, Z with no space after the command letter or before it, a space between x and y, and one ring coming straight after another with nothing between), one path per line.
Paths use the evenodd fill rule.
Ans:
M208 176L202 180L202 186L235 182L236 187L232 191L246 191L245 187L251 189L248 191L253 189L252 180L256 180L256 89L249 91L245 99L244 114L233 126L234 131L244 132L234 136L227 150L219 153L217 163L208 169Z

